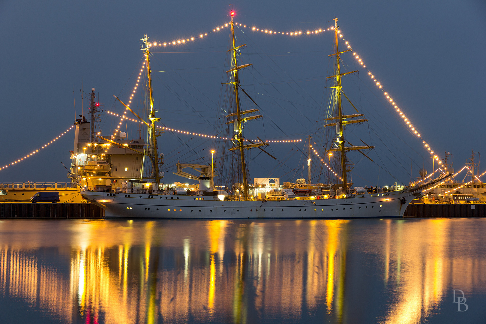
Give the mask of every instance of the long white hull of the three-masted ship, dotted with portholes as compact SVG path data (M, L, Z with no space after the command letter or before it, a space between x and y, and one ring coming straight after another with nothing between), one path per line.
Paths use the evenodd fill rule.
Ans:
M103 207L105 218L295 219L402 217L407 205L416 198L414 192L401 190L361 194L355 198L283 201L221 201L210 196L96 191L82 191L82 195L87 201Z

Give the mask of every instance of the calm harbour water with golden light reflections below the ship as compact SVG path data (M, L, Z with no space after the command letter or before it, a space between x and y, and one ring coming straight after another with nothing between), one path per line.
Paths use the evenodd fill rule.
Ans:
M484 302L485 221L3 221L0 307L50 323L443 323L452 289Z

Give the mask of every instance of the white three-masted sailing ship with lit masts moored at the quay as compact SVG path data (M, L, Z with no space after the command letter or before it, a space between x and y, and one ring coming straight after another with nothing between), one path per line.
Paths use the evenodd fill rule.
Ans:
M147 84L148 84L148 102L149 113L148 120L143 121L148 129L148 145L140 140L124 140L126 134L116 129L111 138L106 136L97 136L97 141L91 139L91 143L87 143L91 149L91 154L95 152L101 160L106 161L111 165L111 173L109 174L110 185L96 186L93 183L84 183L81 194L83 197L96 205L105 209L105 217L115 218L155 218L155 219L175 219L175 218L190 218L190 219L238 219L238 218L383 218L383 217L402 217L407 205L412 199L421 196L421 190L425 186L431 186L436 182L442 181L448 177L449 174L443 174L436 178L432 183L427 183L422 186L414 187L395 187L388 190L377 192L372 190L369 192L352 190L350 187L350 167L347 159L347 152L359 151L366 157L366 151L373 149L373 146L367 144L361 146L353 146L346 140L345 130L346 125L353 123L366 122L364 114L361 114L358 109L347 98L342 90L341 78L347 74L342 73L340 66L340 56L345 54L348 50L339 51L339 26L338 19L334 19L334 48L335 52L330 55L335 58L335 68L333 85L330 87L332 91L331 109L325 119L324 129L328 135L332 137L327 147L328 154L335 154L337 158L335 161L339 164L340 174L331 176L328 171L321 171L328 177L329 186L327 189L332 192L332 195L307 196L301 199L285 199L282 195L280 199L268 199L263 197L255 197L250 195L249 176L247 174L247 159L245 153L249 149L258 148L263 152L269 143L260 140L254 142L244 137L243 125L245 122L253 119L260 119L262 115L259 114L259 109L241 109L240 97L240 79L239 72L241 69L250 66L251 64L239 65L239 51L244 46L238 45L235 38L233 15L231 13L231 48L228 52L231 53L231 68L226 71L229 74L227 86L231 92L230 104L231 110L226 114L226 125L231 127L231 141L225 144L225 150L229 151L229 158L233 167L229 170L233 173L227 179L230 179L234 184L231 189L226 188L231 194L225 191L225 195L221 195L221 191L216 190L214 184L215 177L215 163L211 165L201 165L193 163L179 163L177 162L177 172L180 176L198 180L199 191L195 194L187 195L177 194L176 190L170 192L162 190L160 181L163 172L160 172L161 164L163 163L163 156L159 156L157 152L157 136L161 135L160 130L156 128L156 122L159 121L155 117L152 77L150 70L150 43L148 37L142 38L143 47L145 51L145 62L147 65ZM248 96L243 90L243 95ZM248 96L249 97L249 96ZM118 98L117 98L118 99ZM250 98L251 99L251 98ZM356 110L354 114L344 114L343 99L349 101L351 106ZM119 100L119 99L118 99ZM121 102L121 100L119 100ZM252 99L253 101L253 99ZM132 111L126 104L121 102L127 110ZM133 111L132 111L133 112ZM135 112L133 112L135 114ZM85 122L86 123L86 122ZM76 134L81 134L81 127L83 122L78 121L76 125ZM123 133L123 134L121 134ZM124 137L123 137L124 135ZM80 138L77 138L78 142ZM87 142L86 140L85 142ZM230 143L230 144L229 144ZM310 145L310 142L309 142ZM85 144L78 143L74 149L77 151L73 156L79 157L81 155L81 148L86 154L87 147ZM93 151L94 150L94 151ZM86 156L86 155L85 155ZM273 156L272 156L273 157ZM274 157L275 158L275 157ZM369 158L369 157L368 157ZM130 165L130 168L122 168L123 165ZM86 163L85 163L86 164ZM149 165L150 172L143 175L141 172L144 166ZM117 168L118 166L118 168ZM191 168L200 172L199 176L183 171L184 168ZM76 172L76 167L72 168ZM115 169L115 170L113 170ZM120 169L120 171L118 170ZM129 170L130 169L130 170ZM334 173L334 172L333 172ZM88 174L89 175L89 174ZM86 174L85 174L86 176ZM97 174L92 174L96 177ZM140 190L125 187L118 187L118 181L127 179L139 179L139 182L146 182L147 188L143 187ZM332 178L332 179L331 179ZM144 185L144 184L142 184ZM275 197L274 197L275 198Z

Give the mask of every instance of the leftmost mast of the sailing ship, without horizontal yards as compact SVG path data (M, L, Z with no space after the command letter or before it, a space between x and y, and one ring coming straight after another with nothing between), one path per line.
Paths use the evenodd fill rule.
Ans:
M145 51L145 59L147 61L147 83L149 86L149 97L150 97L150 112L149 112L149 120L150 123L148 124L148 131L149 131L149 142L151 145L151 153L152 153L152 162L154 164L154 173L155 173L155 179L158 184L160 183L160 175L158 172L158 153L157 153L157 135L156 135L156 130L155 130L155 123L156 121L159 121L160 118L155 118L155 110L154 110L154 94L152 90L152 71L150 70L150 43L148 42L149 37L145 35L144 38L141 40L143 41L143 45L145 45L145 48L141 48L141 51Z

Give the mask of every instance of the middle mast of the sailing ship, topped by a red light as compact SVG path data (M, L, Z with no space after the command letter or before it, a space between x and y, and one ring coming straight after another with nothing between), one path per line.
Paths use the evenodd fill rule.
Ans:
M257 116L250 116L250 117L244 118L243 117L244 114L258 111L258 109L250 109L250 110L246 110L246 111L241 111L241 108L240 108L240 95L239 95L239 90L238 90L238 87L240 86L240 79L238 78L238 71L242 68L246 68L248 66L251 66L252 64L250 63L250 64L238 66L238 60L237 60L238 59L238 55L237 55L238 52L237 52L237 50L239 48L242 48L246 44L240 45L238 47L236 46L235 29L234 29L234 23L233 23L234 14L235 14L234 11L231 11L231 39L232 39L233 48L231 50L228 50L228 51L233 51L232 66L231 66L231 69L227 72L232 72L232 74L233 74L233 82L228 82L228 84L232 84L234 86L236 114L230 114L227 117L236 115L236 119L228 121L228 124L233 123L234 139L236 140L237 143L235 143L236 144L235 147L230 148L229 150L230 151L234 151L234 150L240 151L241 168L242 168L242 173L243 173L243 198L244 198L244 200L247 200L248 199L248 180L246 178L246 163L245 163L245 159L244 159L244 149L250 149L250 148L253 148L253 147L264 146L264 145L268 145L268 143L260 142L260 143L252 143L252 144L248 144L248 145L243 145L243 141L244 141L244 138L243 138L243 123L246 120L257 119L257 118L260 118L262 116L257 115Z

